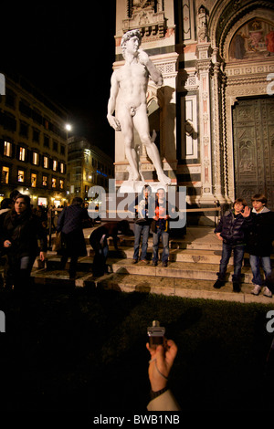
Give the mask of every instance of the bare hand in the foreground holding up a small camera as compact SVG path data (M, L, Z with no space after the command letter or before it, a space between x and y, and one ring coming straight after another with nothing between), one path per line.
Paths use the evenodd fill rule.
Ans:
M167 378L177 354L177 346L174 340L165 340L164 347L159 345L156 349L152 349L147 343L146 348L152 358L148 369L152 390L161 391L167 384Z

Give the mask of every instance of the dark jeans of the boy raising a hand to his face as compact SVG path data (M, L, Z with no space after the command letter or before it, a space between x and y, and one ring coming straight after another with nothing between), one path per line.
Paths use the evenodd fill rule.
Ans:
M242 262L245 255L245 246L233 246L227 245L227 243L223 243L223 251L222 258L220 261L218 279L225 280L226 272L227 272L227 264L229 261L229 257L231 256L233 250L234 257L234 275L232 276L233 282L240 281Z

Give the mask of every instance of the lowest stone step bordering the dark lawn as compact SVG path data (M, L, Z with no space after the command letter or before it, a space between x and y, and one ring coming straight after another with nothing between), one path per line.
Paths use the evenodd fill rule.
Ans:
M68 271L34 268L32 272L35 284L43 286L64 288L86 287L113 289L122 292L142 292L177 296L181 298L204 298L236 301L239 303L271 304L271 298L252 295L253 286L250 283L241 285L239 293L233 292L231 282L227 282L223 288L213 288L210 280L196 280L177 277L157 277L147 275L124 275L118 273L106 274L102 277L93 277L91 273L79 272L75 280L69 280Z

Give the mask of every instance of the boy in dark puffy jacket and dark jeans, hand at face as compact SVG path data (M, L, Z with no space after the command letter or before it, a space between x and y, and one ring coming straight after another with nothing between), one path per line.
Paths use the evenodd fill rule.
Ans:
M221 288L226 282L227 264L232 250L234 255L234 275L232 276L233 291L240 291L240 275L242 262L245 254L245 233L251 223L250 209L247 202L237 198L233 209L228 210L216 226L215 233L223 241L222 258L220 261L218 279L214 288Z

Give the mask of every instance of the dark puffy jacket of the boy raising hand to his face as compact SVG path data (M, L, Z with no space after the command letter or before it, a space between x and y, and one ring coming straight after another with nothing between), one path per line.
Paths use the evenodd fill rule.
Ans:
M227 245L244 245L249 225L251 225L251 214L244 217L242 214L235 215L234 210L227 210L214 232L221 233L221 237Z

